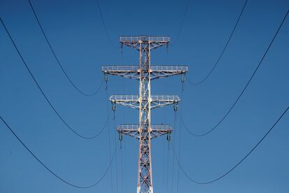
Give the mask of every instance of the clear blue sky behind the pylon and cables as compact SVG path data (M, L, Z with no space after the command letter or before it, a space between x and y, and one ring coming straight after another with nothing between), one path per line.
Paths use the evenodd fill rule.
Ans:
M39 1L34 8L54 51L73 82L92 92L103 80L101 65L121 64L121 52L108 41L96 1ZM110 38L119 35L169 35L175 40L186 1L100 1ZM201 80L220 55L244 1L190 1L184 27L175 45L154 50L152 64L186 64L187 78ZM205 83L186 83L182 99L184 122L203 133L218 122L242 91L279 27L289 1L249 0L221 61ZM91 136L105 124L107 99L104 87L96 96L80 95L70 85L29 8L28 1L0 1L0 15L43 91L80 134ZM78 138L59 120L36 87L3 27L0 29L0 115L24 143L59 176L76 185L101 178L109 162L109 146L117 133L113 122L95 140ZM124 48L124 64L138 64L138 52ZM248 89L230 115L202 138L190 136L179 125L173 138L181 164L191 178L213 180L239 162L288 106L289 19ZM109 94L137 94L138 81L110 77ZM180 77L155 80L152 94L181 95ZM111 108L110 108L111 109ZM154 110L154 124L174 124L172 106ZM116 124L138 122L138 112L119 106ZM179 192L288 192L289 115L235 171L216 183L195 185L179 171ZM0 192L121 192L121 154L124 192L135 192L138 141L124 136L117 163L97 186L79 190L62 183L29 155L0 122ZM108 143L108 129L111 144ZM114 138L115 135L115 138ZM152 142L154 192L176 192L177 163L172 171L165 137ZM166 170L169 164L169 171ZM172 191L172 173L175 176ZM165 176L165 178L163 178ZM118 181L117 181L118 177ZM163 183L164 182L164 183ZM119 186L117 188L117 185Z

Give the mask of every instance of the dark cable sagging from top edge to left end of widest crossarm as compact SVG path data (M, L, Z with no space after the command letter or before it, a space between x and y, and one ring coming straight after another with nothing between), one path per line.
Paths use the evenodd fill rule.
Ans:
M95 90L94 92L92 92L91 94L87 94L87 93L85 93L85 92L82 92L82 91L75 85L75 83L73 83L73 81L71 80L71 78L68 76L68 74L67 74L66 71L64 70L64 67L61 65L61 63L60 63L57 55L55 54L55 52L54 52L54 50L53 50L53 48L52 48L52 45L51 45L50 41L48 41L47 35L45 34L45 31L44 31L44 29L43 29L43 27L42 27L42 24L40 23L40 20L38 19L38 16L36 15L36 11L34 10L34 7L32 6L31 1L30 1L30 0L28 0L28 1L29 1L29 5L30 5L30 7L31 7L31 10L33 11L34 16L35 16L35 18L36 18L36 20L37 20L37 23L38 23L38 25L39 25L42 33L43 33L43 36L45 37L45 40L46 40L47 44L49 45L49 48L50 48L52 54L54 55L54 58L56 59L57 64L60 66L61 71L64 73L64 75L66 76L66 78L69 80L69 82L71 83L71 85L73 85L73 87L75 87L75 90L77 90L78 92L80 92L80 93L83 94L84 96L94 96L96 93L98 93L99 90L101 90L101 87L103 86L103 81L101 82L101 85L99 85L99 86L96 88L96 90Z

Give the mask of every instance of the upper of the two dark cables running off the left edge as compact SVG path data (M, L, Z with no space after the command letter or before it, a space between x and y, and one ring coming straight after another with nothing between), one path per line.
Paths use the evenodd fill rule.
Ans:
M22 62L23 62L23 64L24 64L24 66L26 67L27 71L29 72L31 78L33 78L34 83L36 83L36 86L37 86L38 89L40 90L41 94L43 94L45 100L46 100L47 103L50 105L50 107L53 109L54 113L57 114L57 116L59 117L59 119L66 125L66 127L67 127L68 129L70 129L71 131L73 131L73 133L74 133L75 135L79 136L80 138L94 139L94 138L96 138L97 136L99 136L99 135L101 134L101 132L103 131L105 125L108 123L109 118L108 118L108 120L105 122L105 125L104 125L103 129L101 129L101 131L100 131L99 133L95 134L94 136L82 136L82 135L78 134L78 133L64 120L64 118L61 117L61 115L60 115L60 114L57 112L57 110L54 108L54 106L52 105L52 103L50 102L50 100L47 98L46 94L43 92L42 88L41 88L40 85L38 84L36 78L34 77L33 73L32 73L31 70L29 69L29 67L28 67L27 63L25 62L24 58L22 57L20 51L18 50L17 45L16 45L15 42L13 41L13 38L10 36L10 33L9 33L8 29L6 28L6 25L4 24L4 22L3 22L3 20L2 20L1 17L0 17L0 20L1 20L1 23L3 24L4 29L6 30L9 38L10 38L10 41L12 41L15 50L17 51L18 55L19 55L20 58L22 59Z

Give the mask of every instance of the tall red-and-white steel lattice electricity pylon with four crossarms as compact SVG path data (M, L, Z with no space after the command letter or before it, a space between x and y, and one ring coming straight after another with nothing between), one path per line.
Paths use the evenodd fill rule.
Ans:
M112 95L110 101L112 109L116 104L128 106L139 110L138 124L120 124L117 127L119 137L126 134L140 141L138 155L138 187L137 193L153 193L152 171L151 171L151 139L167 134L170 140L172 127L164 124L151 124L151 109L174 105L177 110L179 96L152 96L151 80L165 78L179 74L185 74L188 66L157 66L151 65L151 50L162 45L169 45L169 36L120 36L121 48L123 45L138 50L140 64L135 66L110 65L102 66L105 80L109 75L122 76L140 81L139 95ZM184 80L184 77L182 78Z

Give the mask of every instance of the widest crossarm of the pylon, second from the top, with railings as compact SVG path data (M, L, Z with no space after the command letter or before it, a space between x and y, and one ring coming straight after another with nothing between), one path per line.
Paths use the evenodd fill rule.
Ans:
M107 65L101 66L103 73L123 76L126 78L140 79L140 66L138 65ZM147 73L146 70L142 70ZM184 74L188 71L188 66L184 65L152 65L150 69L151 80L165 78L174 75Z

